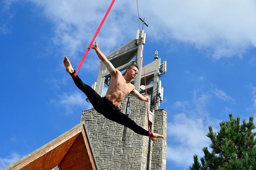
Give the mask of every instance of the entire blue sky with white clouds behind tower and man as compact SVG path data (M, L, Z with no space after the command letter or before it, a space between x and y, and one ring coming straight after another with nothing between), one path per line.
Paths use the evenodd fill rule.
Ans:
M63 66L79 64L110 0L0 2L0 168L77 125L90 108ZM168 111L167 170L187 169L209 146L228 113L256 113L256 2L254 0L139 0L149 27L145 64L158 50L167 60L160 108ZM142 25L141 25L142 26ZM137 3L116 1L96 41L107 54L139 29ZM96 81L99 59L89 51L80 77Z

